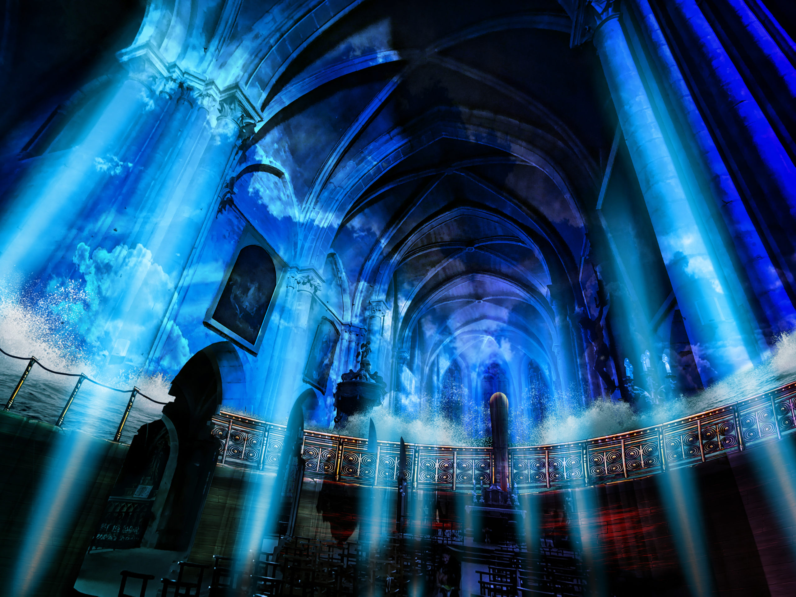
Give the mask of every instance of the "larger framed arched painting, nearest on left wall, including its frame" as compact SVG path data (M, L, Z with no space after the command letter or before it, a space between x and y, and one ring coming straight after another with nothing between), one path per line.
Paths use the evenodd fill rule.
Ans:
M257 356L284 262L251 226L244 229L205 326Z

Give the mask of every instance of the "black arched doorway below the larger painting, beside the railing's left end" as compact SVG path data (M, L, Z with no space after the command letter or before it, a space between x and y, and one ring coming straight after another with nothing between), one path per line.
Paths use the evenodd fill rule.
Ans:
M208 423L224 388L244 383L235 352L209 345L174 377L174 401L133 438L92 547L189 552L221 448Z

